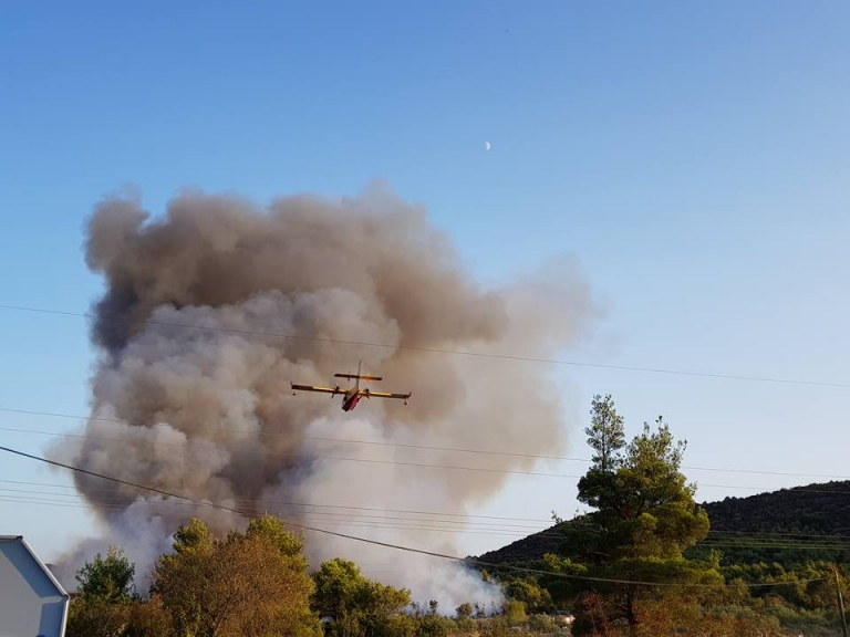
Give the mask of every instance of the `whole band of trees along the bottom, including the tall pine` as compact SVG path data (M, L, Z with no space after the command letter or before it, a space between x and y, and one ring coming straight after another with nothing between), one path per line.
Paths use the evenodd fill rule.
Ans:
M559 520L551 531L557 541L542 558L480 570L483 578L501 585L500 608L442 609L436 602L422 607L408 589L367 579L344 560L324 562L310 574L302 539L276 516L253 520L224 539L191 520L175 534L174 551L153 567L144 599L120 551L86 564L77 575L68 636L837 634L839 589L850 597L843 565L805 558L802 552L790 564L759 553L742 561L744 553L735 549L766 550L766 543L726 539L724 544L733 544L727 555L706 542L708 514L681 472L686 442L661 417L628 440L611 396L595 396L585 432L593 458L578 488L591 512ZM798 547L789 544L782 547ZM571 626L562 622L564 609L574 616Z

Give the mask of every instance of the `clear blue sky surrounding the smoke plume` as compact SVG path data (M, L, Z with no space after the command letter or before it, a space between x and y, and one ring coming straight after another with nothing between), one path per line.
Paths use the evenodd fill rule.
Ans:
M125 184L162 211L185 186L265 201L384 179L486 284L577 255L608 316L564 356L850 383L849 28L839 1L4 3L0 303L85 311L82 224ZM0 311L0 407L85 413L81 318ZM573 414L607 391L630 432L663 413L688 466L850 474L850 389L553 372ZM728 485L711 499L812 481L688 476ZM64 480L10 458L0 479ZM517 479L486 511L540 518L573 495ZM1 500L0 532L49 556L92 529Z

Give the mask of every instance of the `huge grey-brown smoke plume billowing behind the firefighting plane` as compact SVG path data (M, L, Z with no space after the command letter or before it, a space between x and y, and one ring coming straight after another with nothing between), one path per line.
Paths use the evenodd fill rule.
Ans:
M568 261L483 291L425 210L380 187L342 201L284 197L267 208L187 192L155 219L132 196L108 198L90 220L86 250L105 280L92 331L101 351L92 419L76 445L52 449L56 459L250 513L453 551L452 533L326 505L465 513L497 494L506 474L340 458L512 470L533 460L317 438L529 455L564 443L562 391L541 366L421 348L545 356L569 345L594 311ZM359 361L384 376L376 388L413 390L411 405L375 399L345 414L339 397L290 390L290 382L326 385ZM75 480L104 537L65 557L66 581L110 542L124 544L144 574L190 515L217 532L243 524L227 512ZM355 558L366 575L446 609L498 601L456 565L319 534L307 544L314 565Z

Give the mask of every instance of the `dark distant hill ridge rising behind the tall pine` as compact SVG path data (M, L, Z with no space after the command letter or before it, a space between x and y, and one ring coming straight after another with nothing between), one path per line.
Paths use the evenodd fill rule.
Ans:
M746 498L725 498L706 502L712 537L753 534L844 535L850 550L850 481L794 487ZM490 551L477 557L483 562L532 562L547 553L557 553L563 537L560 531L569 522L533 533L522 540Z

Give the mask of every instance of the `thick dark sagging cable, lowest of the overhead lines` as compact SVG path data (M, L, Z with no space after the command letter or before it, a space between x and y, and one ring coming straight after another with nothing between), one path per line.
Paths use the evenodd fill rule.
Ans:
M211 507L214 509L219 509L219 510L222 510L222 511L229 511L231 513L236 513L237 515L241 515L243 518L250 518L249 513L247 513L245 511L241 511L239 509L235 509L235 508L231 508L231 507L226 507L226 505L222 505L222 504L217 504L215 502L204 502L201 500L196 500L195 498L190 498L188 495L183 495L183 494L179 494L179 493L168 492L168 491L165 491L163 489L157 489L155 487L147 487L147 485L144 485L144 484L138 484L136 482L131 482L128 480L122 480L121 478L115 478L115 477L112 477L112 476L105 476L103 473L97 473L95 471L90 471L87 469L82 469L80 467L74 467L72 464L65 464L64 462L58 462L55 460L49 460L46 458L41 458L39 456L33 456L32 453L27 453L24 451L18 451L18 450L11 449L9 447L0 446L0 451L6 451L7 453L13 453L15 456L20 456L20 457L23 457L23 458L29 458L31 460L37 460L39 462L44 462L46 464L52 464L54 467L60 467L62 469L68 469L70 471L76 471L76 472L80 472L80 473L84 473L86 476L91 476L91 477L94 477L94 478L100 478L102 480L108 480L108 481L112 481L112 482L116 482L118 484L124 484L124 485L127 485L127 487L133 487L135 489L141 489L143 491L151 491L152 493L158 493L158 494L165 495L167 498L175 498L175 499L178 499L178 500L185 500L187 502L193 502L193 503L198 504L198 505ZM371 540L369 537L361 537L361 536L357 536L357 535L350 535L348 533L340 533L340 532L336 532L336 531L330 531L328 529L320 529L320 528L310 526L310 525L307 525L307 524L299 524L299 523L294 523L294 522L289 522L289 524L291 526L294 526L297 529L302 529L304 531L313 531L315 533L322 533L322 534L332 535L332 536L335 536L335 537L343 537L343 539L346 539L346 540L353 540L355 542L363 542L363 543L372 544L372 545L375 545L375 546L384 546L386 549L393 549L393 550L396 550L396 551L405 551L407 553L416 553L416 554L419 554L419 555L427 555L427 556L431 556L431 557L439 557L442 560L448 560L448 561L458 562L458 563L462 563L462 564L475 564L475 565L485 566L485 567L509 568L511 571L520 571L520 572L524 572L524 573L536 573L536 574L540 574L540 575L548 575L548 576L553 576L553 577L562 577L562 578L566 578L566 579L579 579L579 581L585 581L585 582L603 582L603 583L609 583L609 584L630 584L630 585L642 585L642 586L691 586L691 587L699 587L699 588L717 588L717 587L725 587L726 586L725 583L724 584L703 584L703 583L687 583L687 584L683 584L683 583L677 583L677 582L640 582L640 581L633 581L633 579L616 579L616 578L610 578L610 577L593 577L593 576L588 576L588 575L572 575L572 574L568 574L568 573L552 573L550 571L543 571L543 570L540 570L540 568L526 568L526 567L522 567L522 566L514 566L514 565L507 565L507 564L499 565L499 564L494 564L494 563L489 563L489 562L484 562L481 560L457 557L455 555L448 555L446 553L437 553L435 551L425 551L423 549L414 549L414 547L411 547L411 546L403 546L401 544L394 544L394 543L391 543L391 542L382 542L380 540ZM798 581L794 582L794 584L801 584L801 583L809 583L809 582L820 582L822 579L825 579L825 578L823 577L816 577L816 578L811 578L811 579L798 579ZM747 587L771 587L771 586L785 586L785 585L788 585L788 584L789 584L788 582L765 582L765 583L757 583L757 584L745 584L745 586L747 586Z

